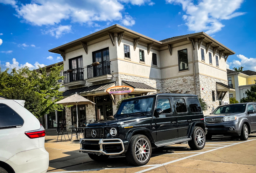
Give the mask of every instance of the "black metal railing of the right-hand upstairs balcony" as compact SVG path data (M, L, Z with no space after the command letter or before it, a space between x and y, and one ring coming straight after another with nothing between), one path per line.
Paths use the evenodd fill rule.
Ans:
M97 76L102 76L105 74L110 74L110 61L102 61L99 62L99 65L93 66L88 65L87 66L87 78L93 78Z

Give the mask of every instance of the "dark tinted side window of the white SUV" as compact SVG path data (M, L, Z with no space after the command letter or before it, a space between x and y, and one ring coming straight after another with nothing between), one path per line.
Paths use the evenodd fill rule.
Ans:
M0 128L23 125L23 119L10 107L0 103Z

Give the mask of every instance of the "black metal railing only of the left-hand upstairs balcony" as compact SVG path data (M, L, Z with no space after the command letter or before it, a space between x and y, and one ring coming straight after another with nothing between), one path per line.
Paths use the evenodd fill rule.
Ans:
M84 80L84 68L75 68L70 69L65 72L64 74L64 83L73 82L77 80Z

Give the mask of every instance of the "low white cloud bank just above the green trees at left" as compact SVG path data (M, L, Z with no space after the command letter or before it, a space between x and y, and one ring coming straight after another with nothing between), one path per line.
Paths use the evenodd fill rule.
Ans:
M30 64L29 62L26 62L25 64L19 64L19 62L16 61L15 58L12 58L12 64L10 62L6 62L5 64L1 64L0 61L0 67L2 68L2 70L5 70L6 68L23 68L25 66L29 67L30 70L36 69L38 68L38 65L43 67L45 66L45 64L39 64L39 62L35 62L34 65Z

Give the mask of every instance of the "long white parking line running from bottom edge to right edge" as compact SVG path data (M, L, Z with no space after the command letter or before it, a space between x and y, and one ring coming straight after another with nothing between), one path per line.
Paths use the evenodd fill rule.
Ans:
M138 171L136 173L143 173L143 172L146 172L146 171L150 171L152 169L156 169L158 167L161 167L161 166L164 166L164 165L168 165L170 163L174 163L174 162L177 162L177 161L182 161L184 159L188 159L190 157L194 157L194 156L197 156L197 155L201 155L201 154L204 154L204 153L209 153L211 151L215 151L215 150L218 150L218 149L223 149L223 148L226 148L226 147L231 147L233 145L237 145L237 144L241 144L241 143L246 143L246 142L250 142L250 141L254 141L256 139L251 139L251 140L247 140L247 141L242 141L242 142L239 142L239 143L233 143L233 144L230 144L230 145L226 145L226 146L223 146L223 147L218 147L218 148L215 148L215 149L211 149L211 150L208 150L208 151L204 151L204 152L201 152L201 153L197 153L197 154L194 154L194 155L190 155L190 156L187 156L187 157L183 157L183 158L180 158L180 159L176 159L174 161L170 161L170 162L166 162L166 163L162 163L162 164L159 164L159 165L156 165L154 167L151 167L151 168L148 168L148 169L144 169L142 171Z

